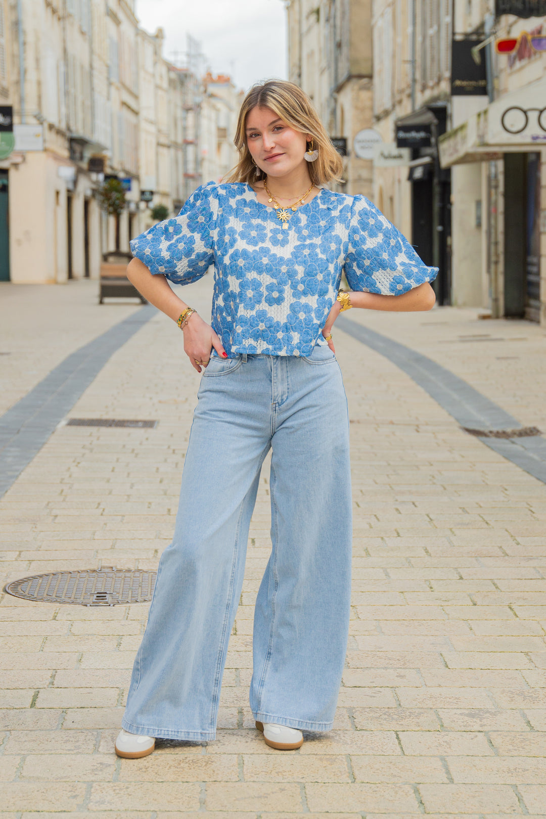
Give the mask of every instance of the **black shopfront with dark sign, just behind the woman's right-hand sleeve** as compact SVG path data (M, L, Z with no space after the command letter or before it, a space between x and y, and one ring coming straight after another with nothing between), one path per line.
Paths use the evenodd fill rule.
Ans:
M412 244L426 265L440 268L436 301L451 299L451 172L442 170L436 141L445 132L447 104L431 103L396 123L396 144L411 150Z

